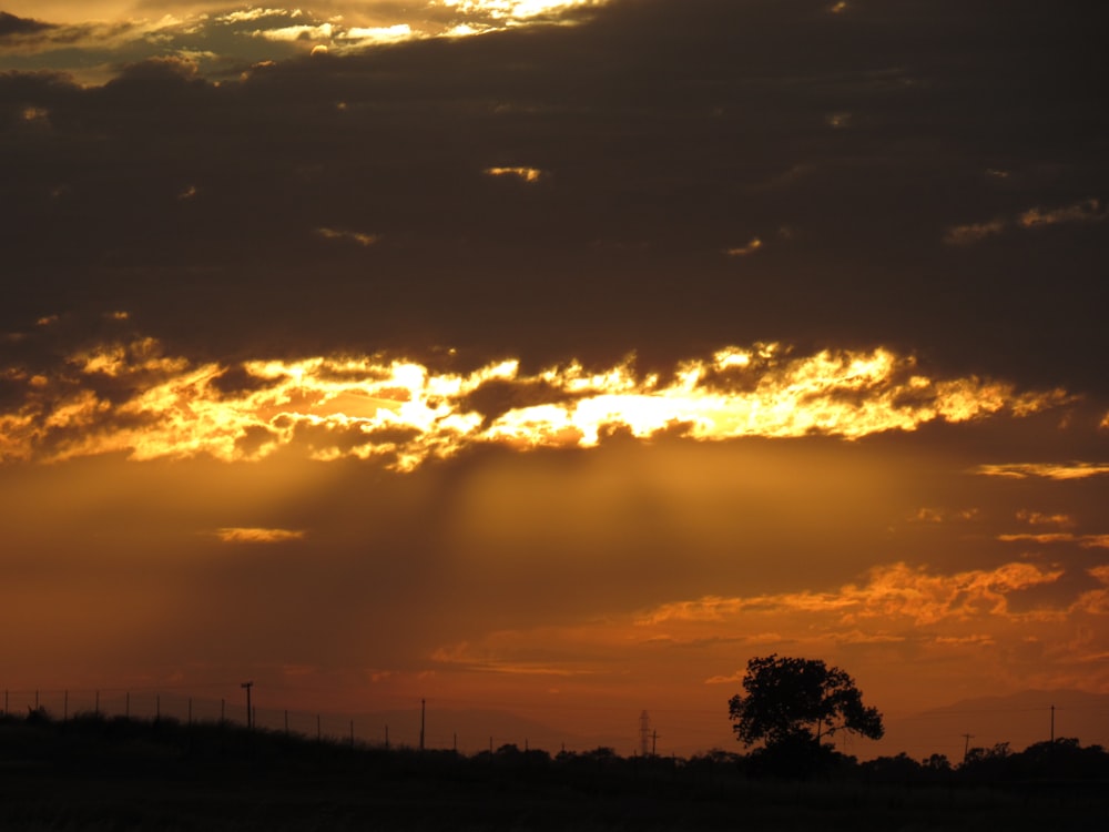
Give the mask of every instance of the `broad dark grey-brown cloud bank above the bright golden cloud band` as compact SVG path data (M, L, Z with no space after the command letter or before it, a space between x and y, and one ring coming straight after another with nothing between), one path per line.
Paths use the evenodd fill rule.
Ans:
M1102 4L831 7L6 74L0 323L128 308L194 356L886 343L1105 393L1107 224L1019 226L1106 199Z

